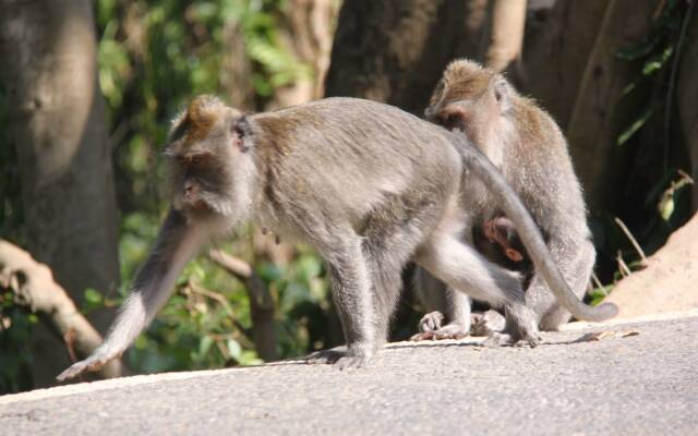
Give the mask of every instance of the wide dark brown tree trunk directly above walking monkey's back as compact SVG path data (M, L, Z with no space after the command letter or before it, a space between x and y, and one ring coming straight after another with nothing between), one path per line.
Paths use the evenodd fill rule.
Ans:
M448 62L477 57L485 11L485 0L345 1L325 95L421 114Z

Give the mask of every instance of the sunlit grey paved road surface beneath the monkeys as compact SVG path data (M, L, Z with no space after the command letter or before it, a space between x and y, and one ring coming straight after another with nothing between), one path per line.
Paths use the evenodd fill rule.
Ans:
M588 331L615 335L576 341ZM284 362L5 396L0 434L698 434L698 317L544 339L396 343L352 372Z

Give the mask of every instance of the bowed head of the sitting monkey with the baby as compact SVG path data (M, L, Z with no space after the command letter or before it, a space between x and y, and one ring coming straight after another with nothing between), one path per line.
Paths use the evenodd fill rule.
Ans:
M495 128L508 111L512 93L506 80L494 70L457 60L444 71L424 114L429 121L460 130L481 143L488 134L483 130Z

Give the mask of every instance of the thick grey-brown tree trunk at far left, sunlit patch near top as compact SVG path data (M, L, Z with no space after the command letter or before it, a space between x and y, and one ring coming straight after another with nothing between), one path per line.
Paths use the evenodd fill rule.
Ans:
M0 58L11 89L27 244L76 304L86 288L112 291L119 277L117 209L96 36L88 0L4 0ZM103 329L110 314L91 316ZM53 384L64 344L34 336L34 382Z

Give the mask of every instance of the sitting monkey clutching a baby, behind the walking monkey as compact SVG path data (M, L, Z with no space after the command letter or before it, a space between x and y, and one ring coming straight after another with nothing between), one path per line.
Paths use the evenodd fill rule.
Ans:
M502 171L530 210L565 280L578 298L583 296L595 251L567 142L550 114L520 96L501 74L477 62L459 60L444 72L425 116L468 136ZM480 238L484 243L477 245L488 258L526 272L528 254L513 245L518 227L510 217L492 201L467 202L465 207L470 211L465 222L466 240L472 242L473 233L476 239L478 232L484 233L485 238ZM423 271L418 275L418 284L428 310L445 314L445 319L440 313L428 314L420 324L422 331L441 330L436 337L469 331L470 301L465 295L447 290L446 299L434 300L437 293L433 288L446 287ZM526 304L542 330L555 330L570 318L539 269L530 277Z

